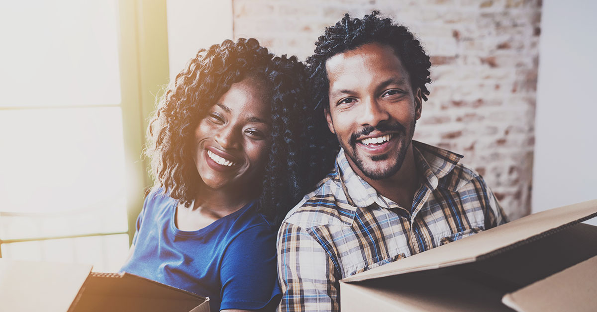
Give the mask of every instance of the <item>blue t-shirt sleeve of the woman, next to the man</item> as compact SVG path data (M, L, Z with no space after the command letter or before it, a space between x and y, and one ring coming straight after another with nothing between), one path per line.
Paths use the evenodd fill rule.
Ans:
M220 310L275 307L281 297L275 234L256 226L236 236L224 252L220 280Z

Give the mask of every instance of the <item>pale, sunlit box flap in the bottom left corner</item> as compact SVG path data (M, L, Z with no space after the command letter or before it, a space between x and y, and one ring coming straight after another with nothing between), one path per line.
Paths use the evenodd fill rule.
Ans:
M0 259L2 311L67 311L91 265Z

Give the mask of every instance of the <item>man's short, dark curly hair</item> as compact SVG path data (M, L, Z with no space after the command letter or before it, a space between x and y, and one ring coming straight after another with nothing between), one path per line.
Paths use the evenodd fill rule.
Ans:
M429 90L426 84L431 82L429 55L407 27L393 23L390 18L380 18L379 14L379 11L373 11L361 19L352 18L346 13L334 26L327 27L324 35L315 42L315 52L307 57L306 63L318 109L329 107L330 81L325 69L327 60L373 42L393 48L410 75L411 86L413 89L420 88L423 100L427 100Z

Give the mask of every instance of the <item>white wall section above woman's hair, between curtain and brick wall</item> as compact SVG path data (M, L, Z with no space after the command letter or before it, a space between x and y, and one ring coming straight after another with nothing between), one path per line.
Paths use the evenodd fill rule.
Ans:
M232 39L232 0L167 0L170 81L200 48Z

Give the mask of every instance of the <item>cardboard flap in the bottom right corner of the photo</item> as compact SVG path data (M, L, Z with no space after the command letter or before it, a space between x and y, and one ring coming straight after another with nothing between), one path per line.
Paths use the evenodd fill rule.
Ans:
M501 301L519 312L595 311L597 256L507 294Z

